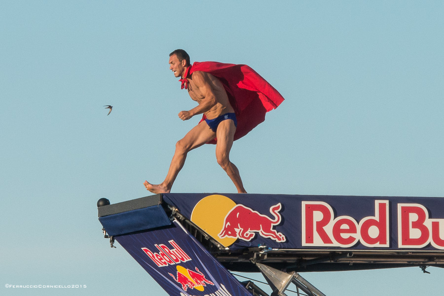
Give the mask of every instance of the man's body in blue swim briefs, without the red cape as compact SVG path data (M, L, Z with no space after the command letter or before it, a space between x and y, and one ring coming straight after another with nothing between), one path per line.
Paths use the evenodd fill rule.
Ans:
M183 78L190 66L189 56L182 49L175 50L170 54L169 64L174 76ZM158 185L145 181L145 187L155 194L169 193L174 180L185 164L187 153L217 137L216 158L218 164L233 181L237 192L247 193L242 185L239 170L229 160L237 121L222 83L210 73L202 71L195 71L186 79L188 80L188 94L198 105L189 111L179 112L179 118L188 120L194 115L203 113L207 119L191 129L183 139L176 143L176 151L165 180Z

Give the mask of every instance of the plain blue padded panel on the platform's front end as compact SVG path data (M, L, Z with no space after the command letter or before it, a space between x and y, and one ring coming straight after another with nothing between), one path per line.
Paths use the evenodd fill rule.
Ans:
M171 225L161 205L99 217L99 221L112 236Z

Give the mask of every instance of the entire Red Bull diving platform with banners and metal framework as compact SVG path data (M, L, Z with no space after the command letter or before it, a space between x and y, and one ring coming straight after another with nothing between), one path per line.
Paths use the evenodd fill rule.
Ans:
M159 194L98 202L114 240L169 294L267 296L232 271L261 272L272 296L300 272L444 267L444 198Z

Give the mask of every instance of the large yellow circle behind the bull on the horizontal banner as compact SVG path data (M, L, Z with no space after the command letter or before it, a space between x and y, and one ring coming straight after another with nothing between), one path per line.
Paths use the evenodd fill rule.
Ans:
M191 221L207 232L224 247L228 247L236 241L236 238L218 236L223 229L226 214L236 203L222 195L211 195L199 200L191 213Z

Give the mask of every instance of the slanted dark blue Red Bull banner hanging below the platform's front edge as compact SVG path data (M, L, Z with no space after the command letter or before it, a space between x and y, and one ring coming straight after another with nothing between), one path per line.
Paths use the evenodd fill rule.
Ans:
M177 221L115 239L171 296L251 296Z

